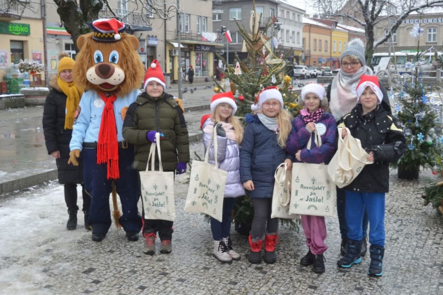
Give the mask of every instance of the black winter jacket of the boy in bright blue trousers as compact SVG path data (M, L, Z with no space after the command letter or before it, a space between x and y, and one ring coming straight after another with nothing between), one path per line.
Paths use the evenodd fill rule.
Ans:
M401 123L386 109L378 105L362 115L361 104L343 117L342 125L359 139L361 147L374 154L374 163L365 165L356 179L345 189L358 192L388 192L389 163L400 159L405 151L406 139Z

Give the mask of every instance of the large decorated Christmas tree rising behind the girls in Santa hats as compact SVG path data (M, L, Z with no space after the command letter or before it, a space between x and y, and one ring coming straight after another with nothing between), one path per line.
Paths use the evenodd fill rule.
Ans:
M254 7L254 5L253 5ZM293 90L292 79L285 73L285 57L277 57L278 48L276 34L276 18L269 19L266 26L260 30L260 15L253 10L249 21L250 32L236 21L239 33L243 38L242 51L246 58L239 58L235 53L234 65L229 66L224 58L218 56L223 63L224 78L215 80L215 92L232 91L236 97L238 110L236 115L244 117L251 112L257 94L265 87L278 86L283 95L284 107L294 116L300 107L297 104L297 94Z

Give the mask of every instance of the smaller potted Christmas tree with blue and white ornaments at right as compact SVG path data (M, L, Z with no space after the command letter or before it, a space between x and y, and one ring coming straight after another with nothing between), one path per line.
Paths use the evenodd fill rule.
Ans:
M411 31L420 34L420 27L416 25ZM398 161L399 178L418 178L420 167L434 167L437 142L435 135L436 110L432 101L432 85L423 86L422 73L419 61L422 52L417 46L416 65L412 78L406 78L399 84L398 99L395 105L398 119L405 128L407 149ZM400 173L405 172L405 174ZM405 175L405 177L403 177ZM410 175L410 177L408 177Z

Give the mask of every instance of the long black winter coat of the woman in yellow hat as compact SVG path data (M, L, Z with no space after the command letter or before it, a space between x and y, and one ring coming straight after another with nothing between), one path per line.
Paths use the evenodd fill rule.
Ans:
M56 78L51 77L52 90L46 96L43 109L43 133L48 154L60 151L55 159L60 184L83 183L82 159L79 166L69 165L69 142L72 130L65 129L66 94L59 88Z

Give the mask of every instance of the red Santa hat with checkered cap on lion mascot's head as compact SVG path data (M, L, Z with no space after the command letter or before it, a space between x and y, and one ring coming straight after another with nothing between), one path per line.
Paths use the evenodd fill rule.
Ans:
M125 28L125 24L115 18L99 18L93 21L90 27L94 32L92 38L95 41L115 42L122 38L120 32Z

